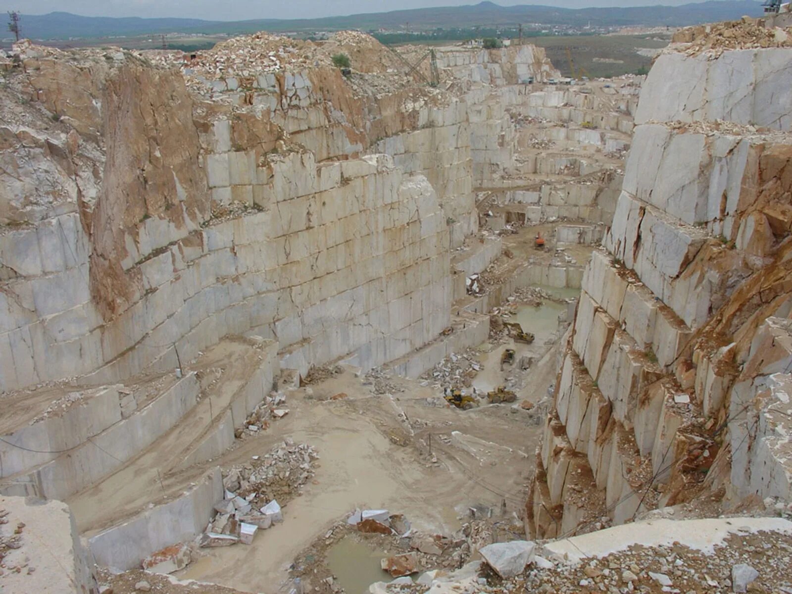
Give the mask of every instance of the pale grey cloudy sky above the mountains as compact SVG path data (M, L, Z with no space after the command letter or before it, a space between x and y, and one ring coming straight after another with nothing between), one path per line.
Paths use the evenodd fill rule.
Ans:
M692 0L569 0L559 3L498 0L501 6L544 4L563 8L585 6L676 6ZM460 6L478 2L465 0L0 0L0 10L18 10L23 14L46 14L55 11L86 17L185 17L209 21L241 21L261 18L317 18L354 13L381 13L390 10Z

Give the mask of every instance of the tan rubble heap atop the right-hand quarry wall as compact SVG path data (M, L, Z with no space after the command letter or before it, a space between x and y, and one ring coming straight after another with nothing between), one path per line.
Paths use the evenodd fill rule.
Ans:
M767 29L755 19L725 21L714 25L688 27L674 33L672 43L688 44L681 48L686 55L709 51L721 55L726 50L749 48L792 48L792 29Z

